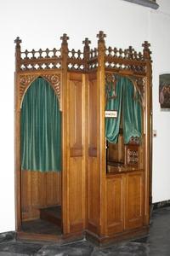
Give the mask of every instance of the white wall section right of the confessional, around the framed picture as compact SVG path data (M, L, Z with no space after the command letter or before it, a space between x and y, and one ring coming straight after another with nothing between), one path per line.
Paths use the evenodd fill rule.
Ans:
M153 52L153 125L157 137L153 139L153 201L170 199L170 112L161 111L158 96L159 75L170 73L170 2L156 12L150 12L150 42Z

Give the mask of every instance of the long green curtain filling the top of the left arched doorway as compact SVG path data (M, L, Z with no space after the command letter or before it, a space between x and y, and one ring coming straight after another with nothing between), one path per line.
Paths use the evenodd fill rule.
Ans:
M20 113L21 169L61 171L61 114L52 86L42 78L26 91Z

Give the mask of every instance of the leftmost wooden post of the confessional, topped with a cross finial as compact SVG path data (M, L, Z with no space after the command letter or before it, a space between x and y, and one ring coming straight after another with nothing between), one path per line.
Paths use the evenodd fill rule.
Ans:
M20 230L21 212L20 212L20 81L18 73L20 72L20 38L14 40L15 45L15 73L14 73L14 179L15 179L15 229Z

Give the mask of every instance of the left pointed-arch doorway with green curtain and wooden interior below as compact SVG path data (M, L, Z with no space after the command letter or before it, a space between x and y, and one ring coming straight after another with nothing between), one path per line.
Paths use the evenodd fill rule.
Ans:
M48 220L61 211L61 129L58 97L38 77L20 109L21 230L28 233L61 234L61 214L57 225Z

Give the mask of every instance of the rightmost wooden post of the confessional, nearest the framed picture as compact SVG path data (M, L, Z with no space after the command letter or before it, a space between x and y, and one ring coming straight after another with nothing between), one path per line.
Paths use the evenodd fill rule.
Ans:
M145 119L145 136L144 136L144 170L145 170L145 193L144 193L144 224L150 222L150 201L151 201L151 172L152 172L152 71L150 58L150 44L145 41L144 61L146 62L146 77L144 83L144 119Z

